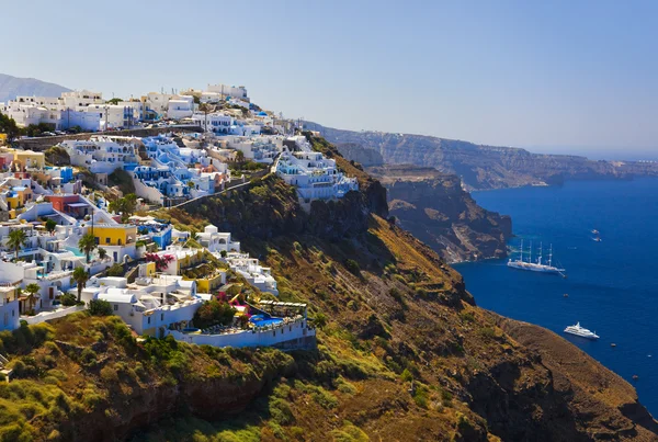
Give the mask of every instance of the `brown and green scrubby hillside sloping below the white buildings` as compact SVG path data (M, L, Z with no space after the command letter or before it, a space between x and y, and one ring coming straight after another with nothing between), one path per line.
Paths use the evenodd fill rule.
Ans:
M236 233L281 299L310 305L317 351L138 342L87 314L3 332L24 381L0 386L0 440L656 440L633 387L559 337L476 307L386 218L384 188L313 143L360 192L306 213L268 175L157 216Z

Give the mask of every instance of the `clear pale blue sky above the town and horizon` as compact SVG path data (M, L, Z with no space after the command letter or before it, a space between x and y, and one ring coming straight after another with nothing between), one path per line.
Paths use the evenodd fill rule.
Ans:
M338 128L658 150L657 1L29 3L0 0L2 73L106 98L243 84Z

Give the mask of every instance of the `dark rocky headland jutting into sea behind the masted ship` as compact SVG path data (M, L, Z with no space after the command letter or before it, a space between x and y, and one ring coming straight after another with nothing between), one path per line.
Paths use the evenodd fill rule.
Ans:
M509 216L477 205L456 175L429 168L368 168L388 191L389 213L447 262L507 256Z

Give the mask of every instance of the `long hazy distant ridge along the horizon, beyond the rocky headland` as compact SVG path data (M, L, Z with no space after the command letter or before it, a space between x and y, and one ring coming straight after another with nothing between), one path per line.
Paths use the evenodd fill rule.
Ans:
M307 123L331 143L356 144L378 151L389 165L433 167L462 178L467 189L503 189L557 184L565 180L627 179L658 175L658 163L593 161L568 155L531 154L524 149L475 145L423 135L352 132Z

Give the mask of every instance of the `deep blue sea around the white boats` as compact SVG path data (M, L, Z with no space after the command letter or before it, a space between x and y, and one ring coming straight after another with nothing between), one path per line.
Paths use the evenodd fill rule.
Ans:
M507 260L455 264L476 303L565 337L633 384L640 403L658 416L658 179L576 181L473 196L485 208L511 215L512 251L523 239L526 253L532 240L534 259L543 241L547 259L553 243L554 259L568 275L513 270ZM577 321L601 339L563 333Z

